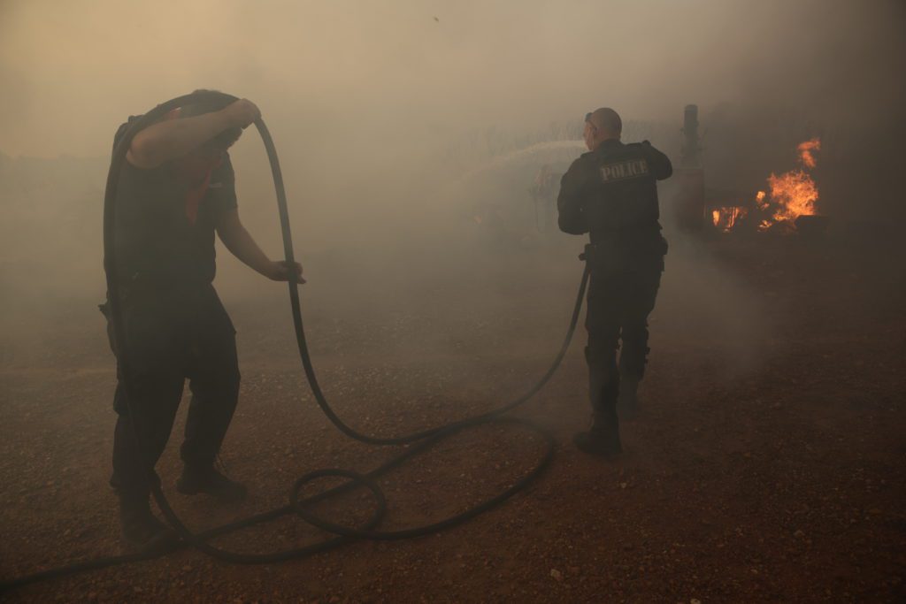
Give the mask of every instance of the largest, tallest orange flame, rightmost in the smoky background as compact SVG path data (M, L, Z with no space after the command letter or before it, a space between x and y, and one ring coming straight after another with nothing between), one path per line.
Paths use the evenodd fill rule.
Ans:
M802 168L790 170L780 176L771 173L767 177L770 193L758 191L755 198L758 209L769 215L761 221L758 229L765 231L777 223L792 223L799 216L814 215L814 204L818 201L818 187L806 171L817 162L814 152L821 150L821 140L811 139L799 143L799 162Z

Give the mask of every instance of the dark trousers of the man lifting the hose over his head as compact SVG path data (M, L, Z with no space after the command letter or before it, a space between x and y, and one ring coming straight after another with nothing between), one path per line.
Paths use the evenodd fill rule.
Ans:
M202 470L214 464L239 395L236 330L209 283L122 295L130 400L118 363L111 485L141 495L150 486L146 464L156 464L167 445L187 378L192 398L180 455Z

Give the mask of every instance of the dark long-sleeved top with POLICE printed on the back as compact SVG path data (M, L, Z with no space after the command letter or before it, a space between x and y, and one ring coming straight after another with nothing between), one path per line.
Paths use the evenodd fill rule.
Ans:
M670 159L646 140L624 145L609 139L583 153L564 174L557 197L564 233L590 234L593 244L624 251L660 249L658 189L670 177Z

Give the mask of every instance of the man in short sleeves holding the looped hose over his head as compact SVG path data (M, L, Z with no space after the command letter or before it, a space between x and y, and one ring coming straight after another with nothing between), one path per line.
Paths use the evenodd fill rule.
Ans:
M148 464L167 444L187 378L192 399L177 490L226 501L246 496L243 484L214 466L239 392L236 331L212 285L215 233L265 277L286 281L296 273L302 281L300 265L270 260L239 219L226 149L259 116L247 100L189 104L136 134L120 171L115 270L130 400L120 367L111 485L129 549L147 550L173 538L150 511ZM114 146L128 127L120 126Z

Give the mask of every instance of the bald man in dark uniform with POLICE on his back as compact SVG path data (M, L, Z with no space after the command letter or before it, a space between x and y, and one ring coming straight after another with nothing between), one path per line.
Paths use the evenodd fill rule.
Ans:
M637 403L649 352L648 315L667 253L655 181L673 173L670 159L647 140L623 144L621 134L616 111L602 108L586 115L583 138L589 152L573 161L557 197L560 230L588 233L591 239L585 247L592 272L585 360L593 424L573 442L585 453L604 457L622 452L618 398L625 414Z

